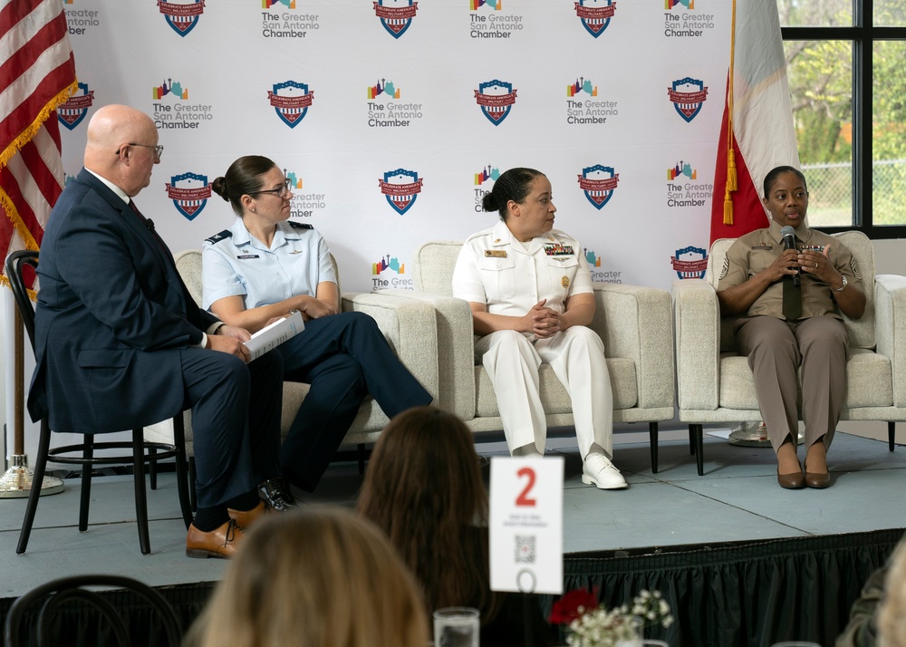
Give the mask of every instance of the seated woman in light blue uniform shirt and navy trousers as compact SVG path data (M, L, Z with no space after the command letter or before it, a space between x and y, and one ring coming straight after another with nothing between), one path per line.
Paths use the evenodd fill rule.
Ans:
M233 227L207 239L204 307L251 333L292 310L305 329L281 344L284 378L311 385L280 449L284 477L313 491L371 393L392 418L427 405L412 377L367 314L341 313L330 249L312 228L288 222L290 181L265 157L236 159L211 183L236 213Z

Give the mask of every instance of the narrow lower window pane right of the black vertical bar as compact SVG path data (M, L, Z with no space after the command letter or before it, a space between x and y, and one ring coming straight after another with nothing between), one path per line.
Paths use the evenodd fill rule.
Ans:
M872 59L872 216L906 224L906 41L876 41ZM810 219L811 221L811 219Z

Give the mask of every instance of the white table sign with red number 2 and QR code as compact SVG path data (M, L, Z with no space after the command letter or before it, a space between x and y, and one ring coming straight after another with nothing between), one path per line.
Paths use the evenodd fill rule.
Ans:
M491 459L491 590L563 593L563 457Z

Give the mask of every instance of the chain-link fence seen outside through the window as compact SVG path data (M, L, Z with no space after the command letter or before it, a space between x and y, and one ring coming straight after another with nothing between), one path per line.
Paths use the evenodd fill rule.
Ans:
M808 223L853 226L853 165L806 164ZM872 168L874 225L906 225L906 159L875 161Z

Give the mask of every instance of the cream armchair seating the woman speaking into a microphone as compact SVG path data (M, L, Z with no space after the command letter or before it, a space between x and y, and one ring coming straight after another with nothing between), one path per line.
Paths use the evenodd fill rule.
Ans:
M862 232L835 236L853 252L867 301L860 319L843 318L850 359L841 420L887 420L893 451L895 421L906 420L906 277L874 274L872 241ZM721 318L718 306L716 269L733 242L714 241L704 279L673 284L679 420L689 423L699 475L703 423L761 418L752 371L736 351L737 317Z

